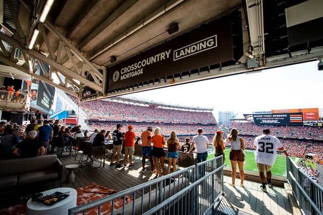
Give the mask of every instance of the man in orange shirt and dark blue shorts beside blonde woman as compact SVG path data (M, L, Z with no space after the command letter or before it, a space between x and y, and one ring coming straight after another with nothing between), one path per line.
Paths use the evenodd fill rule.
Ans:
M152 127L148 126L147 130L141 133L141 149L142 149L142 173L146 172L147 169L145 169L145 163L146 163L146 157L149 157L150 166L151 166L151 173L154 173L154 166L153 166L153 157L151 154L152 147L149 144L149 140L152 137Z

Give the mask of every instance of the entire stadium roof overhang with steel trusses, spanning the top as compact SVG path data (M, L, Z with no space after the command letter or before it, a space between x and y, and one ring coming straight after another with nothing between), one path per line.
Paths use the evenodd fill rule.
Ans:
M296 2L2 0L0 62L86 101L313 61L323 56L323 4ZM192 40L190 33L213 20L211 29L219 30L223 22L217 20L232 14L231 42L221 50L231 50L230 60L219 59L220 52L214 61L113 87L114 68L176 39ZM218 49L221 33L214 37ZM36 60L49 65L49 72L35 74Z

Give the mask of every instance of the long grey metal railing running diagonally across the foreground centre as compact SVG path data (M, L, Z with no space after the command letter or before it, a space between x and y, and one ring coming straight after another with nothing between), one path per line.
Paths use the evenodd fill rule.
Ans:
M69 209L69 215L112 205L111 214L205 214L224 194L223 156ZM129 199L132 199L132 201ZM128 202L126 204L126 202ZM115 209L115 205L122 207Z

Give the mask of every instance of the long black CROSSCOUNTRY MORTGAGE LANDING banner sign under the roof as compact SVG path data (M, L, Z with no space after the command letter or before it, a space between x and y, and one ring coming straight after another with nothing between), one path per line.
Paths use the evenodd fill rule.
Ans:
M234 18L233 15L228 15L203 24L111 67L106 92L232 61L234 59L232 36Z

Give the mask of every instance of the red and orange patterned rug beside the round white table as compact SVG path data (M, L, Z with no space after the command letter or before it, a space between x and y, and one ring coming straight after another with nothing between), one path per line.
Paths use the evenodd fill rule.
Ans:
M105 196L112 195L119 191L112 190L97 184L90 184L85 187L80 187L76 189L77 191L77 205L82 205L87 202L94 201L96 199L103 198ZM133 201L132 197L125 197L126 203L128 204ZM108 214L111 212L112 202L107 202L101 206L101 214ZM118 198L114 201L114 209L118 209L123 206L123 198ZM18 204L14 206L10 206L9 208L0 209L0 215L7 214L15 214L15 215L23 215L26 212L26 204ZM92 208L86 211L87 215L98 214L98 208Z

